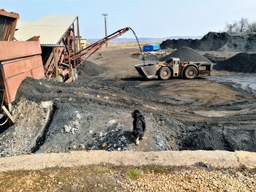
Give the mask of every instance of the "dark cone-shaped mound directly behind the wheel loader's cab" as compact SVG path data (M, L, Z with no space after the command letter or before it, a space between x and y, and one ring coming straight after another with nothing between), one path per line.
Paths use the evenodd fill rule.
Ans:
M208 62L211 63L208 58L204 57L203 55L200 55L200 53L197 53L197 51L193 50L189 47L181 47L178 50L173 51L173 53L170 53L169 55L166 55L163 58L160 58L159 61L167 61L169 58L180 58L181 61L196 61L196 62Z

